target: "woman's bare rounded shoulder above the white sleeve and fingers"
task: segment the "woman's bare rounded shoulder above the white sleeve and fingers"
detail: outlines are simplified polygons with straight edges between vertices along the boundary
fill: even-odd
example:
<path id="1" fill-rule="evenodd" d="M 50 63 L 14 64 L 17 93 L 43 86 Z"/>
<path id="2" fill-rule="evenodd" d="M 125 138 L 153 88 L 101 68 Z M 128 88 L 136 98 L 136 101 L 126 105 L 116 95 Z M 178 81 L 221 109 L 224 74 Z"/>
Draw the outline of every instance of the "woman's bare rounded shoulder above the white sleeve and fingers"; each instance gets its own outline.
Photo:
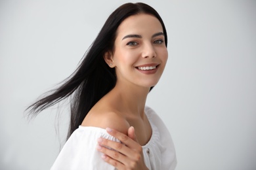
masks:
<path id="1" fill-rule="evenodd" d="M 127 134 L 130 127 L 125 117 L 119 112 L 102 109 L 91 110 L 83 120 L 81 126 L 101 127 L 103 129 L 110 127 L 124 134 Z"/>

